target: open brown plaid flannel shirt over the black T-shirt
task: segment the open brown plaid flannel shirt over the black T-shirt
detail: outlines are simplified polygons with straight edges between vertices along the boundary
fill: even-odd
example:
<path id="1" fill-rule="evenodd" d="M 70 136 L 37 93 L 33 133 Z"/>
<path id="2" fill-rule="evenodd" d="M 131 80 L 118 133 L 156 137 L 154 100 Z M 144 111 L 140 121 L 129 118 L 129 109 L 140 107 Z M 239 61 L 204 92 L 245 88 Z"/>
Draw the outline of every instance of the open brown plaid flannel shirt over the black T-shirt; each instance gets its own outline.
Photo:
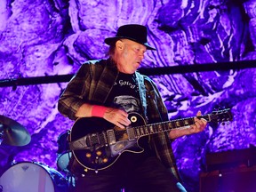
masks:
<path id="1" fill-rule="evenodd" d="M 139 72 L 135 72 L 135 74 L 146 121 L 152 124 L 167 121 L 167 109 L 156 84 L 148 76 L 140 75 Z M 117 76 L 116 64 L 110 59 L 85 62 L 60 96 L 58 102 L 60 113 L 76 120 L 76 111 L 84 102 L 104 105 Z M 151 135 L 149 142 L 151 148 L 155 149 L 156 156 L 180 180 L 168 132 Z"/>

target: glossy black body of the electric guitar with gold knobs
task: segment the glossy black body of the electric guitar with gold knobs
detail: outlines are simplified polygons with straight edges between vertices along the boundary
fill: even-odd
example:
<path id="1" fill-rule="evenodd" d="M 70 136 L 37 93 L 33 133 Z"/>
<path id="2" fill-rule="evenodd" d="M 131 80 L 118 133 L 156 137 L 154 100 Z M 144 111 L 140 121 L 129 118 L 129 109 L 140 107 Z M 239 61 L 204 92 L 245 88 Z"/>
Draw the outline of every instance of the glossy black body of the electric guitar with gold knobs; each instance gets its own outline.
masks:
<path id="1" fill-rule="evenodd" d="M 145 124 L 145 120 L 140 114 L 132 113 L 128 118 L 132 122 L 132 127 Z M 115 141 L 109 139 L 109 135 L 112 135 L 111 132 L 115 132 Z M 98 171 L 108 168 L 125 151 L 143 152 L 143 148 L 140 148 L 138 143 L 139 140 L 129 140 L 126 130 L 123 132 L 114 124 L 100 117 L 77 119 L 69 136 L 73 156 L 79 164 L 89 170 Z M 83 139 L 81 140 L 81 138 Z M 80 145 L 80 147 L 72 147 L 72 141 L 74 141 L 74 146 Z"/>

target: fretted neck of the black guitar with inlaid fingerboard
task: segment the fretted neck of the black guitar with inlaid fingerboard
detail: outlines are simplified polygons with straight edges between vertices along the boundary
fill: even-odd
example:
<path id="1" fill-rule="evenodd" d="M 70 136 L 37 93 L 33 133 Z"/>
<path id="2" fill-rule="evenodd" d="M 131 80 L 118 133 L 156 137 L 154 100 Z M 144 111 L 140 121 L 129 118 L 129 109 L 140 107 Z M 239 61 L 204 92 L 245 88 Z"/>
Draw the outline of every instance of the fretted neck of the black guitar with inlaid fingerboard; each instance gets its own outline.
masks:
<path id="1" fill-rule="evenodd" d="M 146 124 L 137 127 L 127 127 L 126 132 L 129 139 L 138 139 L 142 136 L 156 134 L 159 132 L 169 132 L 173 129 L 180 129 L 195 124 L 195 117 L 181 118 L 178 120 L 166 121 L 156 124 Z M 197 118 L 204 118 L 207 122 L 211 121 L 209 115 L 197 116 Z"/>

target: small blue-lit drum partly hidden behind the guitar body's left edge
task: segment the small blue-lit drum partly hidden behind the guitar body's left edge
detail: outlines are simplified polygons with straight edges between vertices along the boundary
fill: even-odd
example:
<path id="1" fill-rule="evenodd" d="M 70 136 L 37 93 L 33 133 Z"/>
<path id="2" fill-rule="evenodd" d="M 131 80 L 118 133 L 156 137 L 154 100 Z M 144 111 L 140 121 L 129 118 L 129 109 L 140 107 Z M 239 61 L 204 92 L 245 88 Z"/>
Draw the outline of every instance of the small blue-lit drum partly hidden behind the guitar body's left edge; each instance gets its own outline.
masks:
<path id="1" fill-rule="evenodd" d="M 70 130 L 62 132 L 57 140 L 58 151 L 57 151 L 57 167 L 59 171 L 68 171 L 68 163 L 72 156 L 72 152 L 69 149 Z"/>

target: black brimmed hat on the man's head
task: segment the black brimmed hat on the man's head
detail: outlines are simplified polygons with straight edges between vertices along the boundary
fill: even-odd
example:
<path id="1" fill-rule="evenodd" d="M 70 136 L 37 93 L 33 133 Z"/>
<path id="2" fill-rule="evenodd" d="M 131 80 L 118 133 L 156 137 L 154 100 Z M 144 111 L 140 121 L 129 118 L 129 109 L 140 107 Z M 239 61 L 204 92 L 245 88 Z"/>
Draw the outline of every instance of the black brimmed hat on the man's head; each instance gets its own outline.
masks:
<path id="1" fill-rule="evenodd" d="M 147 40 L 148 30 L 145 26 L 139 24 L 129 24 L 121 26 L 117 29 L 116 36 L 108 37 L 105 39 L 106 44 L 111 44 L 118 39 L 130 39 L 139 44 L 144 44 L 148 50 L 156 50 L 156 48 L 150 46 Z"/>

